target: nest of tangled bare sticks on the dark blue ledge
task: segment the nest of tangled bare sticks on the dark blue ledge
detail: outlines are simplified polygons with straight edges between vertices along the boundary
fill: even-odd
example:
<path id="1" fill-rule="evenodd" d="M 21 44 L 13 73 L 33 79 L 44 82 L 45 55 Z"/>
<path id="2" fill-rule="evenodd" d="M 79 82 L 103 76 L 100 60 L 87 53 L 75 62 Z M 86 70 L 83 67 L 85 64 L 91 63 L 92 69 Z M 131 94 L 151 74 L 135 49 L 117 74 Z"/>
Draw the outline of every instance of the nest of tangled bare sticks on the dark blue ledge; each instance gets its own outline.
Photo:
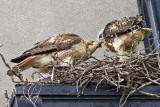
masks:
<path id="1" fill-rule="evenodd" d="M 135 88 L 150 83 L 159 85 L 160 68 L 158 53 L 139 53 L 126 56 L 125 62 L 118 57 L 105 57 L 103 60 L 86 61 L 75 67 L 54 67 L 52 76 L 39 82 L 70 84 L 85 87 L 87 84 L 110 85 L 117 88 Z M 53 80 L 53 81 L 52 81 Z"/>

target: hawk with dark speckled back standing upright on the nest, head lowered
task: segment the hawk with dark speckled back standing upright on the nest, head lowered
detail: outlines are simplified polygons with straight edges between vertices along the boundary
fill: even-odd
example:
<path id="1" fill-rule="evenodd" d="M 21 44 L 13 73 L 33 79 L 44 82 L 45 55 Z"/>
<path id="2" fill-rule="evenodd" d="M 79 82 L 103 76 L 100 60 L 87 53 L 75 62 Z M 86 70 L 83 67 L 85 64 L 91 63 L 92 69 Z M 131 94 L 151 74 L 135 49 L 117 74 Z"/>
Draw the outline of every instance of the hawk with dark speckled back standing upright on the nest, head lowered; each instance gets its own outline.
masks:
<path id="1" fill-rule="evenodd" d="M 105 47 L 120 55 L 120 62 L 124 61 L 124 51 L 136 52 L 139 41 L 151 34 L 150 28 L 144 28 L 142 17 L 123 17 L 108 23 L 98 35 L 100 41 L 105 41 Z"/>

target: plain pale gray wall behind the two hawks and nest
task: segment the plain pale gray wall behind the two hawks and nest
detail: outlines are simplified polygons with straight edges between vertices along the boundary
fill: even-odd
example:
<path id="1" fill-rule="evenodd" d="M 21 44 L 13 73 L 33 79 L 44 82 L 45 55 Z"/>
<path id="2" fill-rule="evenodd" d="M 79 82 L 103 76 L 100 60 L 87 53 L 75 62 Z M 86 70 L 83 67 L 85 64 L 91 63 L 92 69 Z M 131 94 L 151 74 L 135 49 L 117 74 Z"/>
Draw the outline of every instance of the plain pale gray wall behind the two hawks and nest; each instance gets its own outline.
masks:
<path id="1" fill-rule="evenodd" d="M 136 0 L 0 0 L 0 53 L 14 66 L 10 59 L 49 36 L 75 33 L 97 41 L 108 22 L 136 14 Z M 103 58 L 105 53 L 98 49 L 94 56 Z M 0 107 L 6 105 L 5 90 L 10 96 L 14 87 L 7 70 L 0 59 Z M 23 74 L 30 77 L 31 70 Z"/>

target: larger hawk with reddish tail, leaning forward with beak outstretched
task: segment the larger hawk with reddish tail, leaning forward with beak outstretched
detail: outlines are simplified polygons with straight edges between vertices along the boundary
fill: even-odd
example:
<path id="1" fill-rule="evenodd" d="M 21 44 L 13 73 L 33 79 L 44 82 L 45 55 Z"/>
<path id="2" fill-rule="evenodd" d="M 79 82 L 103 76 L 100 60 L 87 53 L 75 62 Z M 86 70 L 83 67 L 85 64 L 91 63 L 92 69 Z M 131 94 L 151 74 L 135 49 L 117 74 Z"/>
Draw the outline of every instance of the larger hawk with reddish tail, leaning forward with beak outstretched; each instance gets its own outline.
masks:
<path id="1" fill-rule="evenodd" d="M 38 68 L 40 73 L 47 73 L 52 70 L 48 68 L 51 62 L 61 66 L 79 64 L 87 60 L 100 45 L 101 43 L 89 42 L 75 34 L 61 34 L 36 43 L 33 48 L 11 62 L 18 63 L 13 67 L 15 72 L 33 67 Z M 14 74 L 9 70 L 7 75 Z"/>

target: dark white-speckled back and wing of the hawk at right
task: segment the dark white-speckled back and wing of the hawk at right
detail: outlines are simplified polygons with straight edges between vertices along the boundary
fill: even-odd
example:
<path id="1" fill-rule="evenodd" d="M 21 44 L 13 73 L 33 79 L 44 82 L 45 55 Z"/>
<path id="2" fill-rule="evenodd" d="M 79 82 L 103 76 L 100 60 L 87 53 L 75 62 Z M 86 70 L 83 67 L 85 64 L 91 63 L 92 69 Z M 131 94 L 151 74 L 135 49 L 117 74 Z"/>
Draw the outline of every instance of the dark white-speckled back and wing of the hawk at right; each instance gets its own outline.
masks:
<path id="1" fill-rule="evenodd" d="M 144 27 L 144 21 L 141 16 L 123 17 L 108 23 L 104 29 L 103 36 L 105 39 L 110 39 L 116 35 L 119 36 L 142 27 Z"/>

